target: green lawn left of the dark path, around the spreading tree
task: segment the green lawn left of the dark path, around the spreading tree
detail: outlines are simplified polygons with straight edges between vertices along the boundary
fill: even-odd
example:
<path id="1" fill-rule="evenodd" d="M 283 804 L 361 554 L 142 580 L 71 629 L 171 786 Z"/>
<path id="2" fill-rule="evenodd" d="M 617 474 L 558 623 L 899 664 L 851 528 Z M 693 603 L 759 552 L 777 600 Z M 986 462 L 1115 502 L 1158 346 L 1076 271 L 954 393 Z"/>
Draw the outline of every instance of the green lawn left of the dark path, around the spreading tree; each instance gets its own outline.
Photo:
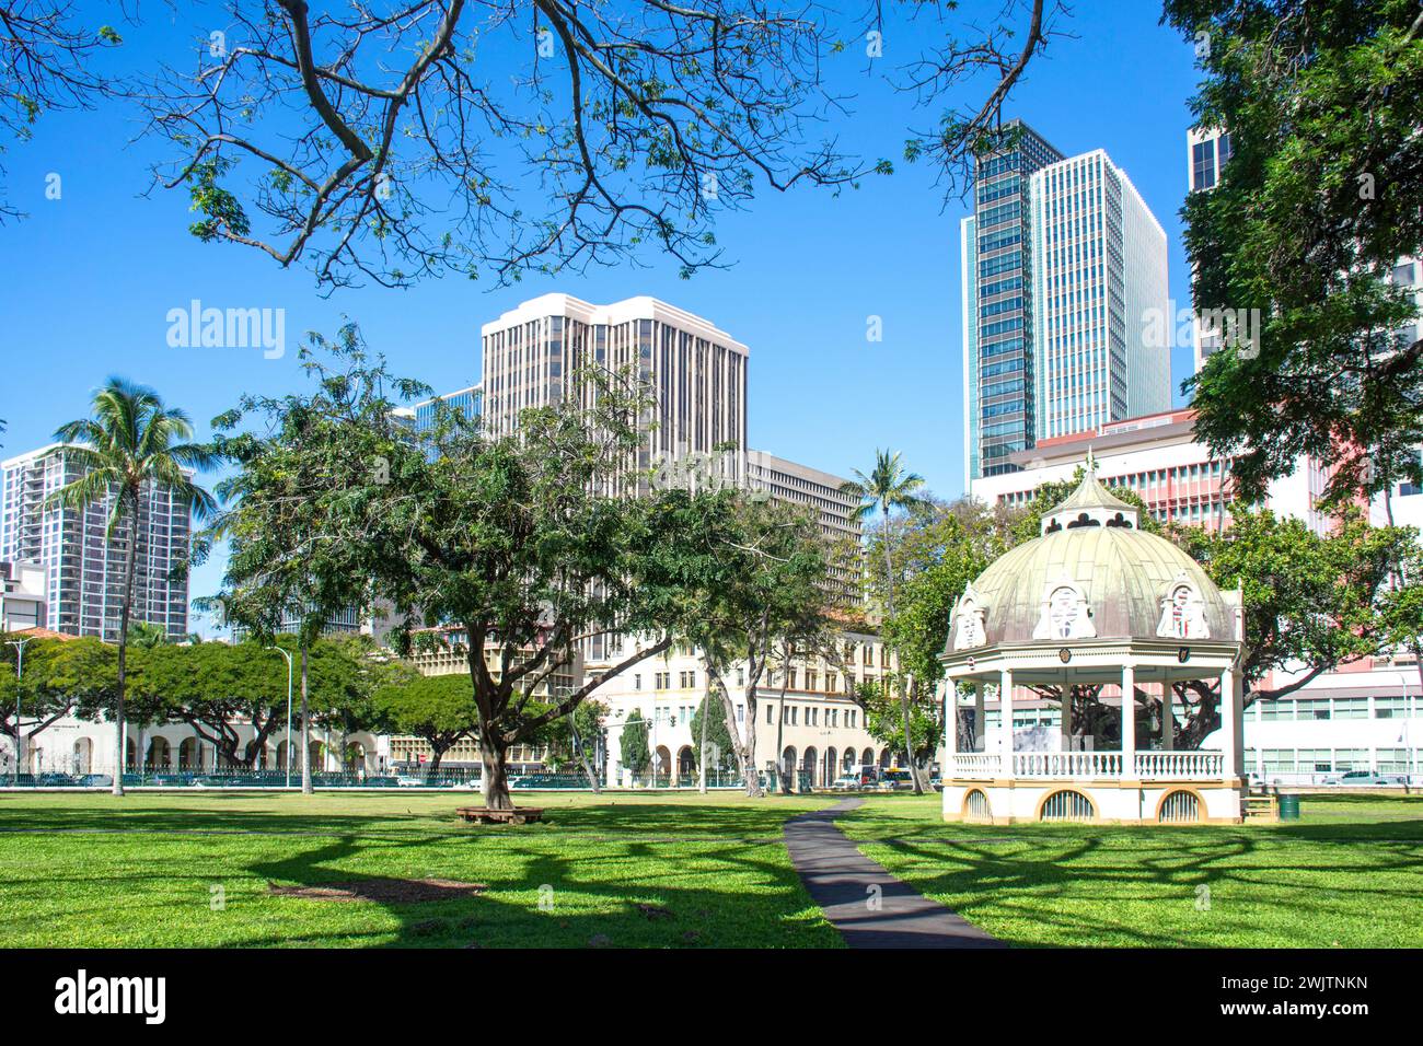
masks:
<path id="1" fill-rule="evenodd" d="M 474 801 L 3 794 L 0 946 L 841 946 L 781 842 L 785 818 L 824 800 L 524 796 L 551 807 L 524 827 L 465 825 L 454 808 Z M 416 904 L 269 894 L 383 877 L 488 889 Z"/>

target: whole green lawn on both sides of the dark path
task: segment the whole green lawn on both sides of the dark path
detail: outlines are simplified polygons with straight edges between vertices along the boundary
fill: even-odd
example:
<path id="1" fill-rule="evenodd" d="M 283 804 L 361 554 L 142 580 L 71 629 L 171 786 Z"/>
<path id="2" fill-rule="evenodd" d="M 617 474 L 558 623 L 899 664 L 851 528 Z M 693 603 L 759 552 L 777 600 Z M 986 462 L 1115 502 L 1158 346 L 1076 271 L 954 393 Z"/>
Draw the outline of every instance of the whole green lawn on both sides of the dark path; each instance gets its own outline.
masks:
<path id="1" fill-rule="evenodd" d="M 527 796 L 549 823 L 487 828 L 454 818 L 472 798 L 0 794 L 0 946 L 841 946 L 781 842 L 785 818 L 827 798 Z M 1013 945 L 1423 946 L 1423 798 L 1306 797 L 1303 811 L 1262 827 L 992 828 L 942 823 L 936 796 L 891 796 L 840 824 Z M 377 878 L 487 889 L 269 889 Z"/>

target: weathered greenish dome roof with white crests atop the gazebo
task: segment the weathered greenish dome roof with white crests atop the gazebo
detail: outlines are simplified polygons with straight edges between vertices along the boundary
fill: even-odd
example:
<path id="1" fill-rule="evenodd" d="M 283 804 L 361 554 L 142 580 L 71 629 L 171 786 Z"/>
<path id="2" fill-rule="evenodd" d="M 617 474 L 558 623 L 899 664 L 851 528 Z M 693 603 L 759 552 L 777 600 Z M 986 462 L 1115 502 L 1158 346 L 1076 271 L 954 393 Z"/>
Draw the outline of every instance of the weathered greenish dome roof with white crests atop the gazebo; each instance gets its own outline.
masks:
<path id="1" fill-rule="evenodd" d="M 1042 537 L 1009 549 L 963 592 L 945 653 L 1063 639 L 1234 642 L 1235 601 L 1140 525 L 1137 508 L 1097 481 L 1089 457 L 1077 488 L 1043 517 Z"/>

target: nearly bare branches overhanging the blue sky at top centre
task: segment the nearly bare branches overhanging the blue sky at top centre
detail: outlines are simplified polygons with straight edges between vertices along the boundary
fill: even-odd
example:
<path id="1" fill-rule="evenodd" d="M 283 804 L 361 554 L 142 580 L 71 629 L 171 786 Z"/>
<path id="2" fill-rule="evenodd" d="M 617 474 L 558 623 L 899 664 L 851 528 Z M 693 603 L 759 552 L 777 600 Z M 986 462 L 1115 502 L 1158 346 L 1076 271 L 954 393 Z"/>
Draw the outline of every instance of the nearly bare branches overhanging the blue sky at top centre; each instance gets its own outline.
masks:
<path id="1" fill-rule="evenodd" d="M 306 263 L 329 286 L 514 280 L 642 246 L 686 275 L 721 263 L 716 216 L 757 192 L 892 171 L 838 144 L 848 100 L 830 73 L 847 46 L 939 111 L 904 154 L 956 184 L 1064 13 L 1056 0 L 988 19 L 938 1 L 233 3 L 219 40 L 205 34 L 194 61 L 149 71 L 135 95 L 171 147 L 155 176 L 191 195 L 194 235 Z M 887 38 L 905 57 L 887 64 Z M 943 111 L 965 95 L 979 101 Z"/>

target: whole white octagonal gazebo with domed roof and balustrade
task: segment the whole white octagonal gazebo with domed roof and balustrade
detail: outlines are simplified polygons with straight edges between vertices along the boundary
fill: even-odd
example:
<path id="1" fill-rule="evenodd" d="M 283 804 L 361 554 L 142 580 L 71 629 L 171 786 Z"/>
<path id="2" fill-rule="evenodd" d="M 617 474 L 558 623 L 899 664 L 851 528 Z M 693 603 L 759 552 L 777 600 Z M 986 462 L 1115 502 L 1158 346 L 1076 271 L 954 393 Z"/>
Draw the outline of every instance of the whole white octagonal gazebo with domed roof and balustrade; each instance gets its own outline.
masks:
<path id="1" fill-rule="evenodd" d="M 1141 531 L 1137 509 L 1097 481 L 1089 453 L 1087 474 L 1043 517 L 1042 537 L 993 562 L 953 608 L 939 657 L 949 702 L 943 818 L 1239 821 L 1242 620 L 1239 591 L 1221 592 L 1185 552 Z M 1217 747 L 1173 750 L 1171 683 L 1181 680 L 1220 687 Z M 972 699 L 959 683 L 972 685 Z M 1120 707 L 1118 737 L 1076 736 L 1070 703 L 1057 731 L 1013 730 L 1015 690 L 1073 686 L 1100 687 L 1099 699 Z M 990 731 L 985 687 L 999 697 Z M 1138 702 L 1151 699 L 1165 714 L 1138 739 Z M 969 707 L 963 729 L 956 713 Z"/>

